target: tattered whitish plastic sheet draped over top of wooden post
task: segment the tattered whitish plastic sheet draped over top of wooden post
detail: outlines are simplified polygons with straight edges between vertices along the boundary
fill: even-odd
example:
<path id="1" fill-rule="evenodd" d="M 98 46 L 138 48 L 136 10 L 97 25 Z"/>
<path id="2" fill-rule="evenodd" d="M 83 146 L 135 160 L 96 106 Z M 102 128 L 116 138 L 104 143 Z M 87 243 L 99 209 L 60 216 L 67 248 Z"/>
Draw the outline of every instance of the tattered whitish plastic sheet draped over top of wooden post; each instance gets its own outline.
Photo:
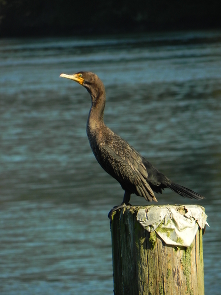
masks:
<path id="1" fill-rule="evenodd" d="M 156 233 L 168 245 L 189 247 L 198 231 L 204 229 L 207 215 L 202 207 L 185 206 L 150 206 L 140 208 L 137 220 L 148 232 Z M 209 226 L 209 225 L 208 225 Z"/>

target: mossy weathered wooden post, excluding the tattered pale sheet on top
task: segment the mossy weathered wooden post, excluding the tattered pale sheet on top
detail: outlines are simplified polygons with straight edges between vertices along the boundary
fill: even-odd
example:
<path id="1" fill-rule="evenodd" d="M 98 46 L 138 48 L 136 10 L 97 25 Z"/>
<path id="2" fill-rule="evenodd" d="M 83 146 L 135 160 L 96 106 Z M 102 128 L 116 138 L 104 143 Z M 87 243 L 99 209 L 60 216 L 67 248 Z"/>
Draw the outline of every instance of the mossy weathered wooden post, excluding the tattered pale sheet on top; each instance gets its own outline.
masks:
<path id="1" fill-rule="evenodd" d="M 204 295 L 202 229 L 189 247 L 167 245 L 137 220 L 138 210 L 150 207 L 128 206 L 114 212 L 114 295 Z"/>

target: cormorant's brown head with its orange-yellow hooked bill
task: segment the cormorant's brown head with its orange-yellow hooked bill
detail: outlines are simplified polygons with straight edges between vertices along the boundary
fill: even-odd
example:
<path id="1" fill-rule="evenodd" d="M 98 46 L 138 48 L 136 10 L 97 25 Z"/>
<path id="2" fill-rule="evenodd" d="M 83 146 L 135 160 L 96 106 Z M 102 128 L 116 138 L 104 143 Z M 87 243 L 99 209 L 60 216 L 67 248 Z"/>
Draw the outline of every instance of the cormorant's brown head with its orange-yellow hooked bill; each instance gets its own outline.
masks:
<path id="1" fill-rule="evenodd" d="M 78 82 L 85 87 L 89 93 L 96 93 L 98 89 L 104 89 L 103 82 L 92 72 L 81 71 L 73 75 L 60 74 L 60 77 Z"/>

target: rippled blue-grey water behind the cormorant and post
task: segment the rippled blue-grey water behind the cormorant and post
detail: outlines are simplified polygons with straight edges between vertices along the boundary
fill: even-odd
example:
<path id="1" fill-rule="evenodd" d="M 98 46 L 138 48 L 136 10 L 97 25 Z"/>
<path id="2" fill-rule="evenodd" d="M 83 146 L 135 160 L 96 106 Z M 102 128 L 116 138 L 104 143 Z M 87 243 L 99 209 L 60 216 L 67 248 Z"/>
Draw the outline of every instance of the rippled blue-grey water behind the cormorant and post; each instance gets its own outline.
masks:
<path id="1" fill-rule="evenodd" d="M 59 79 L 79 70 L 103 80 L 111 129 L 207 197 L 205 294 L 220 294 L 221 31 L 3 39 L 0 67 L 0 294 L 113 294 L 107 214 L 123 191 L 90 150 L 88 93 Z"/>

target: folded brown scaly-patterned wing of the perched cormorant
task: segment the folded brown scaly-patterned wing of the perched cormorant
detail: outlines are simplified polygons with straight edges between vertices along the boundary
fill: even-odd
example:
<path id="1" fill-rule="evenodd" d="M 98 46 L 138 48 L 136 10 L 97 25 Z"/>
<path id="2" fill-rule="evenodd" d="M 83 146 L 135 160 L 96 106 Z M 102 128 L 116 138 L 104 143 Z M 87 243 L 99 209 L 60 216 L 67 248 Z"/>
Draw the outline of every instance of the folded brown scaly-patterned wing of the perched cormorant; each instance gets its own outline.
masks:
<path id="1" fill-rule="evenodd" d="M 127 142 L 117 137 L 100 146 L 102 157 L 98 162 L 103 169 L 117 179 L 124 190 L 129 190 L 147 201 L 156 198 L 147 182 L 148 173 L 142 163 L 142 156 Z"/>

